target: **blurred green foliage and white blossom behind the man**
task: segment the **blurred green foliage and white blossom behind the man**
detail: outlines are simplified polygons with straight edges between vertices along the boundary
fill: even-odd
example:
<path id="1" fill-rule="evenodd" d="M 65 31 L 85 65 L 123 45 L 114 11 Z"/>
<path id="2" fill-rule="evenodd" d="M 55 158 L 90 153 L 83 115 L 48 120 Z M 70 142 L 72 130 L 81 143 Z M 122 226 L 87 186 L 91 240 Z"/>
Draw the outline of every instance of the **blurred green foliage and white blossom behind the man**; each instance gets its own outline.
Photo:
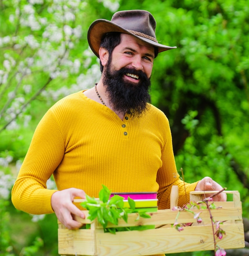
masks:
<path id="1" fill-rule="evenodd" d="M 211 176 L 240 191 L 248 216 L 247 0 L 0 0 L 0 171 L 16 177 L 47 109 L 98 81 L 87 29 L 125 9 L 150 11 L 157 40 L 177 46 L 159 54 L 151 77 L 152 103 L 170 121 L 177 169 L 186 182 Z M 0 199 L 0 215 L 1 255 L 57 255 L 55 216 L 34 224 L 9 196 Z M 25 241 L 16 236 L 23 232 Z"/>

